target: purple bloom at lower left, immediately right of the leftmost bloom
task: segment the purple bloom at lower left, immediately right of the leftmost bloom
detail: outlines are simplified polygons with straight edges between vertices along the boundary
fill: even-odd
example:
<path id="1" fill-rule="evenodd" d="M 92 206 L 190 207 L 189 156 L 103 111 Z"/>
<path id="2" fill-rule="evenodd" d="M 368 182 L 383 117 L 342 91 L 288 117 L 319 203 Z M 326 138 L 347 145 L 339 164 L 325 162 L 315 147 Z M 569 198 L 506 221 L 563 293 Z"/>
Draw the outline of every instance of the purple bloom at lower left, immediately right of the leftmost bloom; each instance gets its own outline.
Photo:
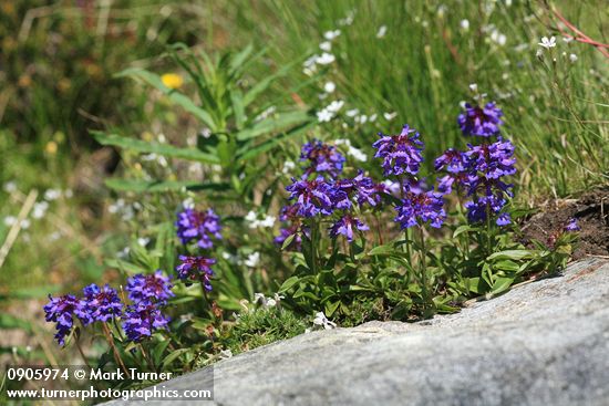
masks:
<path id="1" fill-rule="evenodd" d="M 83 289 L 84 298 L 81 305 L 74 312 L 83 324 L 93 322 L 107 322 L 112 317 L 120 316 L 123 311 L 123 303 L 118 299 L 115 289 L 107 284 L 100 288 L 92 283 Z"/>

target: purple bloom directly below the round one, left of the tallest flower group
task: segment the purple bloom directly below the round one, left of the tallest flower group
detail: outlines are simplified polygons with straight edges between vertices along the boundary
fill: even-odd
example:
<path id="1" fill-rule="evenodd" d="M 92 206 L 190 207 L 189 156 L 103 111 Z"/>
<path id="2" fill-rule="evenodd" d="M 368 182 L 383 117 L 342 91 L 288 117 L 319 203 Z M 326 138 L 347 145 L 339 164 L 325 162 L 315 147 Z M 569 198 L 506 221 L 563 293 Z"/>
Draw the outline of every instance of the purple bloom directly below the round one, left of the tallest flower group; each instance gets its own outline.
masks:
<path id="1" fill-rule="evenodd" d="M 429 222 L 434 228 L 440 228 L 446 219 L 443 195 L 420 189 L 407 190 L 404 194 L 402 204 L 395 207 L 398 216 L 394 221 L 400 223 L 402 229 Z"/>

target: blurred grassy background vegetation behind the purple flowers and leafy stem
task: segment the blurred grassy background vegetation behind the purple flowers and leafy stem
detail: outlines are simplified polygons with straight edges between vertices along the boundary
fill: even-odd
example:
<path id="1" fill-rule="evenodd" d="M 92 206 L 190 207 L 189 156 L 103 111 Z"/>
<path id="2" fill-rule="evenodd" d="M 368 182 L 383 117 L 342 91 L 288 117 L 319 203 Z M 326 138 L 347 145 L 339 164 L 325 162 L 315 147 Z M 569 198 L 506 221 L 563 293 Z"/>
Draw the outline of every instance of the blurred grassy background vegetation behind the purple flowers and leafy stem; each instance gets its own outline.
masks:
<path id="1" fill-rule="evenodd" d="M 475 83 L 504 110 L 518 147 L 519 204 L 533 206 L 609 177 L 607 58 L 564 41 L 570 31 L 554 11 L 609 42 L 602 0 L 1 0 L 0 246 L 14 242 L 0 266 L 0 351 L 55 356 L 51 334 L 40 334 L 45 294 L 112 281 L 102 259 L 145 244 L 133 214 L 154 205 L 104 185 L 123 173 L 142 176 L 142 163 L 121 160 L 90 131 L 176 145 L 205 132 L 161 92 L 118 72 L 173 74 L 165 79 L 192 95 L 167 45 L 217 54 L 252 44 L 264 54 L 242 81 L 289 66 L 257 105 L 279 97 L 316 112 L 343 101 L 339 118 L 307 135 L 348 138 L 369 156 L 379 131 L 409 123 L 423 135 L 429 167 L 465 144 L 455 123 Z M 557 46 L 540 49 L 551 35 Z M 324 52 L 334 61 L 307 71 L 303 63 Z M 293 156 L 298 145 L 285 149 Z"/>

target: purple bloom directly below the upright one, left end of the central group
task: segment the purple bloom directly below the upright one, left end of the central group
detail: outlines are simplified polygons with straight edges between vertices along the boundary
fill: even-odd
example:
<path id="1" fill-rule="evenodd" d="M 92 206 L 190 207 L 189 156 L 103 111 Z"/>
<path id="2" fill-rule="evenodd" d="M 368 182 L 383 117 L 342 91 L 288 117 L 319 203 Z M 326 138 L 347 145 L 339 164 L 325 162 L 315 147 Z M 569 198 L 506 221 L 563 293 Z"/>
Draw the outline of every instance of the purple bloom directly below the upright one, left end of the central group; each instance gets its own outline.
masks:
<path id="1" fill-rule="evenodd" d="M 323 180 L 322 177 L 308 180 L 304 177 L 300 180 L 292 178 L 292 185 L 286 187 L 290 192 L 289 199 L 296 199 L 298 216 L 314 217 L 319 214 L 329 216 L 334 209 L 334 188 Z"/>

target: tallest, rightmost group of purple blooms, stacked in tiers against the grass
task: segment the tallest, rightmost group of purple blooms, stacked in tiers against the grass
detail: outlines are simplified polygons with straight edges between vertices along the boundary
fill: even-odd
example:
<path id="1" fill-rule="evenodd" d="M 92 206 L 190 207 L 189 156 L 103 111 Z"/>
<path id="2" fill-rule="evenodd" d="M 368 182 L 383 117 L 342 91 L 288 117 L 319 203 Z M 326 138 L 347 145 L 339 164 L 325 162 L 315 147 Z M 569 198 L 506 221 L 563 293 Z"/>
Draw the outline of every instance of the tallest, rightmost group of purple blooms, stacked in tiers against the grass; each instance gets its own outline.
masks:
<path id="1" fill-rule="evenodd" d="M 502 115 L 495 103 L 488 103 L 484 110 L 467 105 L 460 124 L 466 135 L 489 137 L 498 134 Z M 514 145 L 500 136 L 494 143 L 485 139 L 481 145 L 468 144 L 466 152 L 451 148 L 435 160 L 435 169 L 447 173 L 440 179 L 438 191 L 447 195 L 456 186 L 457 192 L 471 198 L 465 202 L 469 222 L 483 222 L 488 216 L 496 216 L 498 226 L 507 226 L 512 220 L 502 210 L 513 196 L 513 186 L 503 178 L 516 173 L 515 164 Z"/>

